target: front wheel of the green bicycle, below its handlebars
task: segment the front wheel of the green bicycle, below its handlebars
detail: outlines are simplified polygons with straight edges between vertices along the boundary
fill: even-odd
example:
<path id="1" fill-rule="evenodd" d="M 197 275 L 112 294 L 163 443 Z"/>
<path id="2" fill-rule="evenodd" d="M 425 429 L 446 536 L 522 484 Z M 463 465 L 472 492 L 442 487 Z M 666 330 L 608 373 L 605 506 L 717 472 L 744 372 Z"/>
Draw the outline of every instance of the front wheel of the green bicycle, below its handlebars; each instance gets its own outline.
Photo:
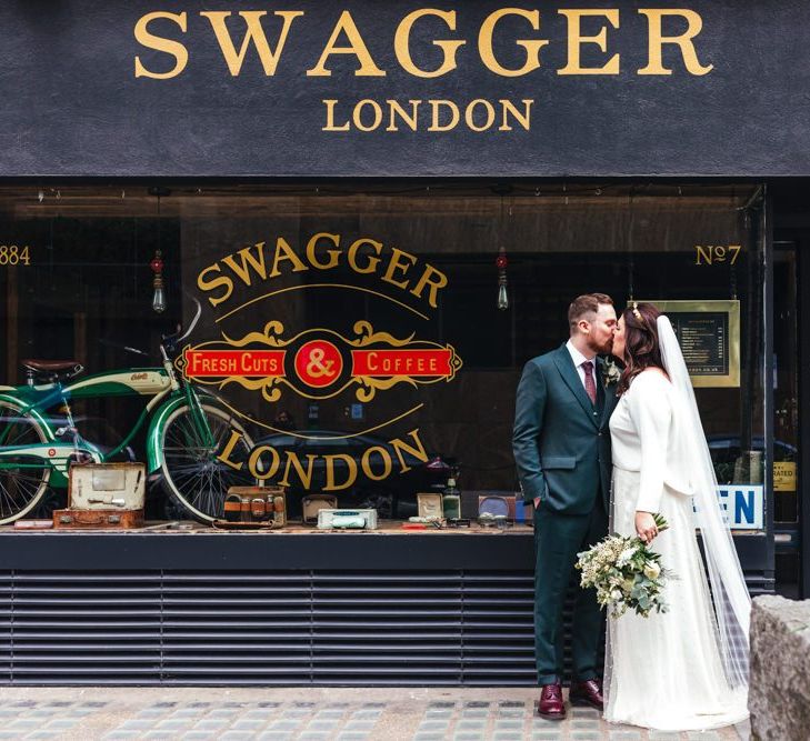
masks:
<path id="1" fill-rule="evenodd" d="M 189 407 L 176 409 L 166 421 L 160 437 L 163 485 L 197 520 L 211 522 L 222 518 L 224 498 L 230 487 L 256 485 L 256 479 L 248 471 L 248 455 L 253 443 L 233 414 L 204 402 L 200 408 L 208 420 L 214 444 L 204 444 Z M 230 440 L 231 430 L 241 435 L 229 454 L 230 461 L 242 463 L 238 471 L 217 458 Z"/>

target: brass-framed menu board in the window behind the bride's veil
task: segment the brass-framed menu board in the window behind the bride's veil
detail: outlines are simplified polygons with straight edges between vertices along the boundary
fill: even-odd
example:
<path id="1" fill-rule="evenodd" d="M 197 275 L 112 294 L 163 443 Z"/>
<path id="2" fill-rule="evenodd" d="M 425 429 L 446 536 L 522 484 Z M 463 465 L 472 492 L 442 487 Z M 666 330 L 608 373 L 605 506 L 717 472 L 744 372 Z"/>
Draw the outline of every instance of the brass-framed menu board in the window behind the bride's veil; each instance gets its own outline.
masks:
<path id="1" fill-rule="evenodd" d="M 739 301 L 650 302 L 669 317 L 692 385 L 740 385 Z"/>

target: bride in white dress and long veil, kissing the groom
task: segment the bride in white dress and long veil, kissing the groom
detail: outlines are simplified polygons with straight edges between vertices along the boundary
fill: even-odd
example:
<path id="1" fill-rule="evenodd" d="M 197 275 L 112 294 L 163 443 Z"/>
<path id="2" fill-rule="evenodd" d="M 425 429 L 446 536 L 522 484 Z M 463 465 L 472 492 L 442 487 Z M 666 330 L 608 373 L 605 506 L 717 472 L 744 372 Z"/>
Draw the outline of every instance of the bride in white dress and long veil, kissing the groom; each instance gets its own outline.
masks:
<path id="1" fill-rule="evenodd" d="M 738 723 L 748 717 L 751 603 L 683 356 L 651 303 L 623 312 L 613 354 L 626 370 L 610 420 L 611 532 L 651 543 L 677 578 L 664 589 L 668 612 L 609 618 L 604 718 L 660 731 Z M 661 534 L 656 512 L 669 523 Z"/>

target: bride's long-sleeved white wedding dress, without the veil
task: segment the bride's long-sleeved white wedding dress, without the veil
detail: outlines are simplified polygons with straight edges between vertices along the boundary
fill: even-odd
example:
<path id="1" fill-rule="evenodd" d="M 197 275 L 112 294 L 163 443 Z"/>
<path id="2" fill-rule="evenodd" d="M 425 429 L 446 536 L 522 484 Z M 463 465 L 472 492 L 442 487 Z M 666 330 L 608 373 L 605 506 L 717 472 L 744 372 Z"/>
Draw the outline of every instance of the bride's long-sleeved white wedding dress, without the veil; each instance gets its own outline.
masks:
<path id="1" fill-rule="evenodd" d="M 608 617 L 604 718 L 660 731 L 708 730 L 748 717 L 747 684 L 731 688 L 694 532 L 684 430 L 673 385 L 660 371 L 637 375 L 610 420 L 611 533 L 636 535 L 636 511 L 660 512 L 669 529 L 652 542 L 664 569 L 669 612 Z"/>

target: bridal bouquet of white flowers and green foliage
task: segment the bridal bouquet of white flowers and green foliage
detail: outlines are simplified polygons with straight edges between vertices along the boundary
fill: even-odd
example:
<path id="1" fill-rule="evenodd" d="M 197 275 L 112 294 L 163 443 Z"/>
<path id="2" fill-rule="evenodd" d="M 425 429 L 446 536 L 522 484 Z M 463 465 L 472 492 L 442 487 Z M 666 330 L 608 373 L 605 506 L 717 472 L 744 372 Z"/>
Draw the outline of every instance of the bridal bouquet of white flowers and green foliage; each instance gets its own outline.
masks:
<path id="1" fill-rule="evenodd" d="M 659 532 L 669 527 L 660 514 L 653 515 Z M 580 587 L 597 590 L 601 607 L 610 605 L 611 615 L 620 618 L 628 609 L 642 618 L 667 612 L 663 587 L 676 575 L 661 567 L 660 553 L 651 551 L 640 538 L 610 535 L 591 549 L 577 554 L 582 571 Z"/>

